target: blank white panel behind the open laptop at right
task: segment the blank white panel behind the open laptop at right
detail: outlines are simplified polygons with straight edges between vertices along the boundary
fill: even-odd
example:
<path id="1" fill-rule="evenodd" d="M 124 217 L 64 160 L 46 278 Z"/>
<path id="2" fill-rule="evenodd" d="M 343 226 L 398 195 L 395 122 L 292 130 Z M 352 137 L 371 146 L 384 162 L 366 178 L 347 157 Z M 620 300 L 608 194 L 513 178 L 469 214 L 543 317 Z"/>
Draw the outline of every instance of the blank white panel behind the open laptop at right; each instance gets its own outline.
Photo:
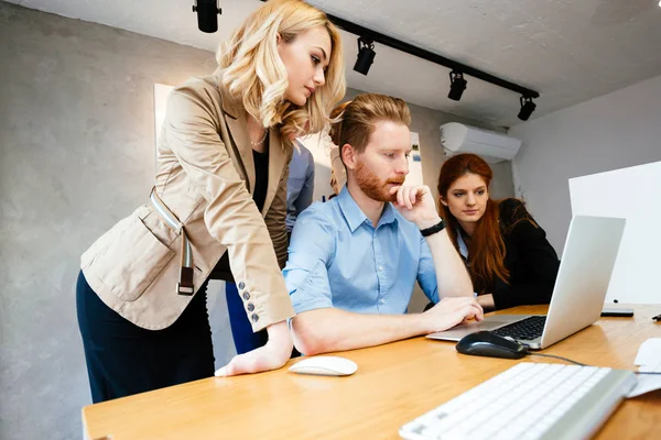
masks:
<path id="1" fill-rule="evenodd" d="M 627 219 L 606 301 L 661 304 L 661 162 L 570 179 L 573 216 Z"/>

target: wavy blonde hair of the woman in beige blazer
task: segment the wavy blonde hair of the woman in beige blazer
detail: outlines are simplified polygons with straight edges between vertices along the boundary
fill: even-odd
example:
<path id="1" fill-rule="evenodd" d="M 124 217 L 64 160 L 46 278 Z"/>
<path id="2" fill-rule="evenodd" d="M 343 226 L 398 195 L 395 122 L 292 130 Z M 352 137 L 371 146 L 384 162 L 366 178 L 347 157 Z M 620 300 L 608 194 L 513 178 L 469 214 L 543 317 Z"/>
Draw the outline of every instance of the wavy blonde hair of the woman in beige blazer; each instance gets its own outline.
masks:
<path id="1" fill-rule="evenodd" d="M 326 82 L 300 107 L 284 99 L 289 82 L 278 53 L 278 35 L 291 42 L 316 26 L 325 26 L 330 36 Z M 220 80 L 229 92 L 264 128 L 279 125 L 285 144 L 293 138 L 328 130 L 328 113 L 346 91 L 339 32 L 324 12 L 301 0 L 266 2 L 220 45 L 217 61 L 224 69 Z"/>

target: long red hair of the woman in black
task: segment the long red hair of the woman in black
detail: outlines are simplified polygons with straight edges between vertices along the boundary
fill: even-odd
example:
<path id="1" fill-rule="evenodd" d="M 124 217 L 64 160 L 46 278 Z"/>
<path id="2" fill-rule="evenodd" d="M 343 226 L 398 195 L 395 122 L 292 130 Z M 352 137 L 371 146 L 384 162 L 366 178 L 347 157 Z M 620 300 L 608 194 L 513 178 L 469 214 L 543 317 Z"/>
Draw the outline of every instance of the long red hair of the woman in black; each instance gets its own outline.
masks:
<path id="1" fill-rule="evenodd" d="M 449 209 L 441 202 L 447 200 L 449 187 L 459 177 L 473 173 L 485 180 L 487 188 L 491 184 L 494 172 L 489 164 L 475 154 L 457 154 L 449 157 L 441 167 L 438 176 L 438 213 L 445 220 L 447 234 L 455 248 L 459 223 Z M 505 267 L 505 241 L 499 226 L 499 201 L 487 200 L 485 215 L 477 221 L 475 232 L 468 244 L 468 273 L 473 279 L 475 292 L 484 294 L 494 288 L 496 277 L 509 283 L 509 271 Z"/>

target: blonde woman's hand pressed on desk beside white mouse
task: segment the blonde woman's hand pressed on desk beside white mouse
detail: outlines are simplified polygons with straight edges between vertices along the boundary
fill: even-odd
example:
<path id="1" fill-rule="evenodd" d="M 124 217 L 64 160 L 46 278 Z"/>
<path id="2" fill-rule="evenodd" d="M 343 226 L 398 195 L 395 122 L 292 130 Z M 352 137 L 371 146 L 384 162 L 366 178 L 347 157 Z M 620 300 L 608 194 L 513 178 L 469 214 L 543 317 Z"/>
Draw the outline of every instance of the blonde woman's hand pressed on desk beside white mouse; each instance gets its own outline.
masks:
<path id="1" fill-rule="evenodd" d="M 264 346 L 232 358 L 227 365 L 216 371 L 216 376 L 236 376 L 280 369 L 292 355 L 294 342 L 286 321 L 267 327 L 269 342 Z"/>

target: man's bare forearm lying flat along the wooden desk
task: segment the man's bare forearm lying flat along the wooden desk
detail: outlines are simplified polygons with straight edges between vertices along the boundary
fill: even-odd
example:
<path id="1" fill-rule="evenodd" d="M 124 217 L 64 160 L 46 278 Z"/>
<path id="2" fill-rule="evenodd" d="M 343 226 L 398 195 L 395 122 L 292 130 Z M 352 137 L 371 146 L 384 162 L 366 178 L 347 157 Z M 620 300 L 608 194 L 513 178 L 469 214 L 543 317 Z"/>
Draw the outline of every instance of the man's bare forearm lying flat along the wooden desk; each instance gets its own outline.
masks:
<path id="1" fill-rule="evenodd" d="M 304 311 L 292 320 L 294 345 L 307 355 L 380 345 L 426 334 L 424 319 L 411 315 L 362 315 L 335 308 Z"/>

